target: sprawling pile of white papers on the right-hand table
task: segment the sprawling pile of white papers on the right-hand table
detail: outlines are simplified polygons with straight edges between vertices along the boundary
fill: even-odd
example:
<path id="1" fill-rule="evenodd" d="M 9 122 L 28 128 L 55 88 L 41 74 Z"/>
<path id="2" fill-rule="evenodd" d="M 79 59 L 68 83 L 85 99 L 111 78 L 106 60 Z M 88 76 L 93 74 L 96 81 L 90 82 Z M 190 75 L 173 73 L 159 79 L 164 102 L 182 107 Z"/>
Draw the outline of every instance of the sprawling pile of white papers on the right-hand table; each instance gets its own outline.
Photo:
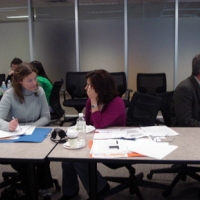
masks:
<path id="1" fill-rule="evenodd" d="M 128 157 L 131 152 L 162 159 L 177 146 L 170 145 L 178 133 L 167 126 L 97 129 L 91 148 L 92 157 Z"/>

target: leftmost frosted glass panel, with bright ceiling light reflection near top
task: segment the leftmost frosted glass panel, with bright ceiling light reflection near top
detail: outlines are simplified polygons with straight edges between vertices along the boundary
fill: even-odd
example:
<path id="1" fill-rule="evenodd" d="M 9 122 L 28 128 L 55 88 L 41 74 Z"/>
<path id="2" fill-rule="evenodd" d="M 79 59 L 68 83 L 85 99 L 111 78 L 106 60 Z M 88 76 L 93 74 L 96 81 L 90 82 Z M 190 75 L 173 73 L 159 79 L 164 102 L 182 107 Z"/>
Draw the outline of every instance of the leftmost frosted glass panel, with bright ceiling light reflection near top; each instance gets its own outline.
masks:
<path id="1" fill-rule="evenodd" d="M 10 18 L 8 18 L 10 17 Z M 27 1 L 0 1 L 1 73 L 8 75 L 11 61 L 29 60 Z"/>

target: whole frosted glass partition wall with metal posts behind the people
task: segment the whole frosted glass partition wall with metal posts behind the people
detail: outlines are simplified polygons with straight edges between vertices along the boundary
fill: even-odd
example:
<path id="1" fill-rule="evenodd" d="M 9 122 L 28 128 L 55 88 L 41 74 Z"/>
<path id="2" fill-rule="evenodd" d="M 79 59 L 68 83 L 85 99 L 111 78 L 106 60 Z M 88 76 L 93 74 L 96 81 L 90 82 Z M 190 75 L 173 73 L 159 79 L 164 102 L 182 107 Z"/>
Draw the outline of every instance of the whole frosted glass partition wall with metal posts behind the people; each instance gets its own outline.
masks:
<path id="1" fill-rule="evenodd" d="M 28 2 L 33 59 L 43 63 L 52 81 L 64 79 L 67 71 L 127 70 L 128 88 L 135 91 L 138 72 L 165 72 L 167 90 L 173 90 L 174 76 L 176 84 L 189 76 L 199 53 L 200 0 L 10 0 L 0 2 L 6 74 L 14 57 L 31 61 Z"/>

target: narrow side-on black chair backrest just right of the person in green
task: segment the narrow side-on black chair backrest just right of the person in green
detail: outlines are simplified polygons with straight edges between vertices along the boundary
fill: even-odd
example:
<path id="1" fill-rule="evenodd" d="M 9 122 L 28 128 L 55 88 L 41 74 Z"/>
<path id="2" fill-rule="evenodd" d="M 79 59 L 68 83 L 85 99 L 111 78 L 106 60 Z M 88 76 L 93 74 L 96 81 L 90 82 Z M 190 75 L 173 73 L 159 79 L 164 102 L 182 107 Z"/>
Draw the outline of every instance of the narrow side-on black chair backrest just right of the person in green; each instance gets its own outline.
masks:
<path id="1" fill-rule="evenodd" d="M 51 95 L 49 98 L 49 104 L 54 111 L 54 113 L 51 114 L 53 116 L 53 117 L 51 116 L 53 119 L 61 118 L 63 117 L 65 113 L 65 111 L 62 109 L 62 106 L 60 104 L 60 89 L 62 87 L 62 84 L 63 84 L 62 79 L 60 81 L 54 82 Z"/>

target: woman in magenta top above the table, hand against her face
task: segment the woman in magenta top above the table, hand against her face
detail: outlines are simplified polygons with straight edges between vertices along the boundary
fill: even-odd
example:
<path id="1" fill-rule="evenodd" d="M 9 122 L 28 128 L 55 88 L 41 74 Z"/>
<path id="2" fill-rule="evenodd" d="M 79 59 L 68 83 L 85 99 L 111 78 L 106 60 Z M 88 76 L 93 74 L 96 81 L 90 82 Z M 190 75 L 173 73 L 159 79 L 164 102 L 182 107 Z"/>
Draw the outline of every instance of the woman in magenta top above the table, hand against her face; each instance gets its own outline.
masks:
<path id="1" fill-rule="evenodd" d="M 118 96 L 112 76 L 105 70 L 95 70 L 86 75 L 88 100 L 85 120 L 95 128 L 125 126 L 126 112 L 123 100 Z"/>

